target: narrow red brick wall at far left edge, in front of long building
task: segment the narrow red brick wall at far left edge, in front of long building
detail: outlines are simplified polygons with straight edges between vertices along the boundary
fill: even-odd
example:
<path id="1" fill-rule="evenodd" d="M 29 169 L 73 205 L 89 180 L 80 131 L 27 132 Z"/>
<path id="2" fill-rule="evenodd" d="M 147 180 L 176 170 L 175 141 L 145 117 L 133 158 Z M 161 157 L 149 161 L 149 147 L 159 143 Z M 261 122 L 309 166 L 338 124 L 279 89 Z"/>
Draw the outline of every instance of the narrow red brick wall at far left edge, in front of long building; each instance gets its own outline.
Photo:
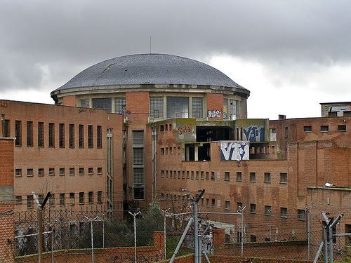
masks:
<path id="1" fill-rule="evenodd" d="M 6 194 L 13 191 L 13 147 L 12 139 L 0 137 L 0 193 L 3 195 L 5 189 Z M 12 250 L 15 236 L 13 209 L 13 194 L 0 196 L 0 262 L 4 263 L 15 262 Z"/>

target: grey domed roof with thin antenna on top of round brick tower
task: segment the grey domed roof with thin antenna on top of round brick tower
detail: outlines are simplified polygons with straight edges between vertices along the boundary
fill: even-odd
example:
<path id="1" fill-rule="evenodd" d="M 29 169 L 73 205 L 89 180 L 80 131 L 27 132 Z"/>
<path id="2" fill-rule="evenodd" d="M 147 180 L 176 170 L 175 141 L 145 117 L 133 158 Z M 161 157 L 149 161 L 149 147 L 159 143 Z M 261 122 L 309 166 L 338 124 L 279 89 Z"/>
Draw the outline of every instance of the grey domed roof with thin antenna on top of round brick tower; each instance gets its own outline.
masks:
<path id="1" fill-rule="evenodd" d="M 220 86 L 250 93 L 214 67 L 166 54 L 126 55 L 102 61 L 84 69 L 53 93 L 70 88 L 143 84 Z"/>

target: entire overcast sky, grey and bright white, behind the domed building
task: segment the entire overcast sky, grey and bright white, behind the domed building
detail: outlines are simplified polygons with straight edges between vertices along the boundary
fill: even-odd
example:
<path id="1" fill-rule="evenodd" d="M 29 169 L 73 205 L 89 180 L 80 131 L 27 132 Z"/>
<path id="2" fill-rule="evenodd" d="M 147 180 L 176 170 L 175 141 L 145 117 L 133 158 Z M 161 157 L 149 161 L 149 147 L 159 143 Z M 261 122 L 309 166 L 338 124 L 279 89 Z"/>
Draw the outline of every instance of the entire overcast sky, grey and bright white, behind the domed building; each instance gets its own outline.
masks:
<path id="1" fill-rule="evenodd" d="M 0 0 L 0 99 L 53 103 L 81 70 L 133 53 L 205 62 L 251 90 L 250 118 L 351 101 L 351 1 Z"/>

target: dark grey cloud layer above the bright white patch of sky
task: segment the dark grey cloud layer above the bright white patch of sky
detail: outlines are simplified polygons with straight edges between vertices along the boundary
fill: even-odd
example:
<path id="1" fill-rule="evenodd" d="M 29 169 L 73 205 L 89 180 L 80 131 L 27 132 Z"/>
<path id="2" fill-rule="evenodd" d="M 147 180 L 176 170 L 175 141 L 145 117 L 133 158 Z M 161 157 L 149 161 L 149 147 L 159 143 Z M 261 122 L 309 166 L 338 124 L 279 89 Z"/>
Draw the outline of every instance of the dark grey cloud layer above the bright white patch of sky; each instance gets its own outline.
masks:
<path id="1" fill-rule="evenodd" d="M 52 87 L 108 58 L 228 54 L 286 72 L 350 63 L 350 1 L 2 1 L 0 90 Z M 318 66 L 316 66 L 318 67 Z M 291 78 L 295 78 L 294 75 Z"/>

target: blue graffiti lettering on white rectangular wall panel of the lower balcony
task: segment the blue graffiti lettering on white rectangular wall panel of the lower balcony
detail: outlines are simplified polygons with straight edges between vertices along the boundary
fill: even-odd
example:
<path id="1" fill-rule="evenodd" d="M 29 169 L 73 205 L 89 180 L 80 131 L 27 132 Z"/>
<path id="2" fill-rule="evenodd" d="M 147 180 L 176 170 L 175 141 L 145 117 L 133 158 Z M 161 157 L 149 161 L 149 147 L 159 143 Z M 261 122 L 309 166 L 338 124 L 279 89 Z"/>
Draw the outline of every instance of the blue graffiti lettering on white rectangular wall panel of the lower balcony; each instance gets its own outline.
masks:
<path id="1" fill-rule="evenodd" d="M 248 142 L 220 142 L 220 160 L 249 160 Z"/>

